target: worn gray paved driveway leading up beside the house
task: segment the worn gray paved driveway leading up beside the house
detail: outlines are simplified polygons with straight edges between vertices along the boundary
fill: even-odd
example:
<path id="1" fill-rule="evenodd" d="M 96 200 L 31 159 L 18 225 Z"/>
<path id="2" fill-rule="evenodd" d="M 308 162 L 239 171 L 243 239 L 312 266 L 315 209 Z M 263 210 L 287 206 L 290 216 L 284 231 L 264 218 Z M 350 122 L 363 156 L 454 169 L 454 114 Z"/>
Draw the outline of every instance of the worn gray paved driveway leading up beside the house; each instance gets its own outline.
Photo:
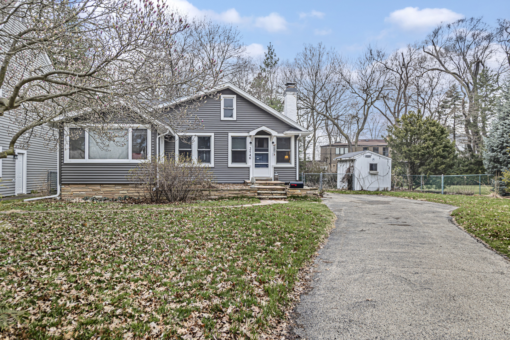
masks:
<path id="1" fill-rule="evenodd" d="M 326 195 L 338 217 L 295 308 L 307 339 L 510 339 L 510 263 L 453 206 Z"/>

